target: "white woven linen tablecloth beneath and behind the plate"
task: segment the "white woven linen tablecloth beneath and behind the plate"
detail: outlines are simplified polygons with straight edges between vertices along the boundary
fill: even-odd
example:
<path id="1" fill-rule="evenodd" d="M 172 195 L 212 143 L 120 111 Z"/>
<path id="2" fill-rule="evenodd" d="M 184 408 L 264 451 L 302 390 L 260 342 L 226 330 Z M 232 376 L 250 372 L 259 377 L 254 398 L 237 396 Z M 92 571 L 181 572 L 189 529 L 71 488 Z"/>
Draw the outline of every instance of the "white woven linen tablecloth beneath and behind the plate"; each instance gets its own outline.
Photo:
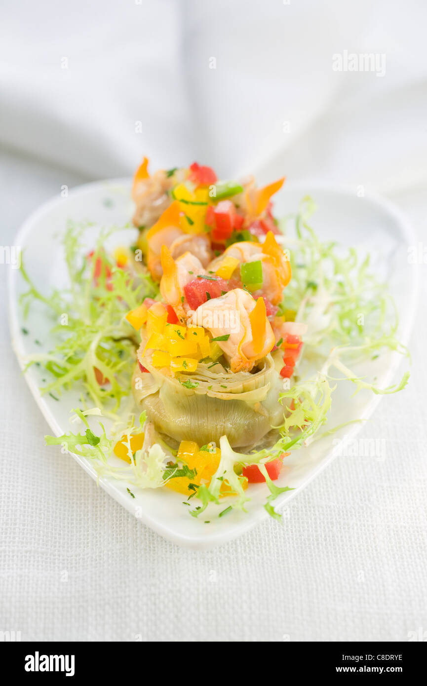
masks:
<path id="1" fill-rule="evenodd" d="M 62 185 L 131 174 L 143 152 L 153 167 L 197 158 L 222 176 L 248 169 L 365 185 L 393 198 L 426 241 L 421 3 L 3 5 L 3 246 Z M 334 72 L 332 55 L 344 50 L 385 54 L 386 73 Z M 188 552 L 44 446 L 48 427 L 10 350 L 0 265 L 0 631 L 401 641 L 427 630 L 421 270 L 411 381 L 360 434 L 385 438 L 385 459 L 337 458 L 292 500 L 284 525 L 266 521 L 214 551 Z"/>

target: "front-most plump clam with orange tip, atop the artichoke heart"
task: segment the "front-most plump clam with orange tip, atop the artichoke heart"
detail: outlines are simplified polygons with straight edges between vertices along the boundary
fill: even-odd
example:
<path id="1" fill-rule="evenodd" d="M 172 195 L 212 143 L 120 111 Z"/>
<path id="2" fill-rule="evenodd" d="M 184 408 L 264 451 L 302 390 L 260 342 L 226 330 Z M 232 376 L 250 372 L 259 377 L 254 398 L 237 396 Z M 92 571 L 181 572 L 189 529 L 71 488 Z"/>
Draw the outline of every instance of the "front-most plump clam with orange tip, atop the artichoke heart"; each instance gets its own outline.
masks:
<path id="1" fill-rule="evenodd" d="M 218 341 L 230 363 L 232 372 L 251 371 L 257 360 L 265 357 L 275 345 L 275 335 L 266 317 L 262 298 L 255 303 L 242 288 L 207 300 L 197 308 L 194 319 L 208 329 L 214 338 L 229 335 Z"/>

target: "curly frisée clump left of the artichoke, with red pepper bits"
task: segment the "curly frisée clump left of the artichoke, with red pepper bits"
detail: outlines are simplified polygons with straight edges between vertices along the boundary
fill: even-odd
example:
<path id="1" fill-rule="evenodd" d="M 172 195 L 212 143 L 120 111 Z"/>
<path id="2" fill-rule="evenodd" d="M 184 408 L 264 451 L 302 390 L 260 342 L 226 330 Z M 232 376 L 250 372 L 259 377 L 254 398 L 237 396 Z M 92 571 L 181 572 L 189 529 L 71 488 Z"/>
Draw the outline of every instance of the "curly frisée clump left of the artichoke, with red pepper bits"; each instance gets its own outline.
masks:
<path id="1" fill-rule="evenodd" d="M 158 289 L 149 276 L 136 277 L 117 268 L 104 250 L 106 239 L 119 230 L 117 227 L 101 230 L 91 257 L 84 255 L 87 226 L 70 223 L 65 233 L 67 289 L 43 296 L 21 264 L 23 278 L 30 286 L 21 296 L 24 311 L 33 300 L 39 300 L 59 321 L 51 332 L 51 351 L 30 355 L 27 366 L 42 364 L 49 372 L 43 394 L 60 394 L 80 382 L 103 414 L 115 418 L 122 400 L 131 394 L 139 345 L 139 334 L 126 320 L 126 312 L 140 305 L 143 298 L 156 296 Z"/>

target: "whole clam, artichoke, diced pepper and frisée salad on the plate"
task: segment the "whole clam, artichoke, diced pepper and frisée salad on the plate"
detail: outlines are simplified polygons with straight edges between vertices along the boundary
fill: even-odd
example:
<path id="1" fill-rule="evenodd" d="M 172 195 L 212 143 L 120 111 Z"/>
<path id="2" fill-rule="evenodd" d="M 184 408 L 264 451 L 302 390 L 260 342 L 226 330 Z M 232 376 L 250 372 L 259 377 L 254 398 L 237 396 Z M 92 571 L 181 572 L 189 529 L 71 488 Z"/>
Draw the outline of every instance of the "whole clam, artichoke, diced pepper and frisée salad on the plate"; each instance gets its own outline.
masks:
<path id="1" fill-rule="evenodd" d="M 193 517 L 246 511 L 261 483 L 279 519 L 274 500 L 290 488 L 292 453 L 325 432 L 336 379 L 355 392 L 404 388 L 408 372 L 389 388 L 357 373 L 386 348 L 408 355 L 369 257 L 316 236 L 311 198 L 279 220 L 284 181 L 218 180 L 198 163 L 150 174 L 144 158 L 131 245 L 114 226 L 87 250 L 87 227 L 70 222 L 70 287 L 50 297 L 23 255 L 24 311 L 40 300 L 54 318 L 68 313 L 49 353 L 27 363 L 45 368 L 43 393 L 80 390 L 70 407 L 78 431 L 47 436 L 48 445 L 92 460 L 130 497 L 143 488 L 181 497 Z"/>

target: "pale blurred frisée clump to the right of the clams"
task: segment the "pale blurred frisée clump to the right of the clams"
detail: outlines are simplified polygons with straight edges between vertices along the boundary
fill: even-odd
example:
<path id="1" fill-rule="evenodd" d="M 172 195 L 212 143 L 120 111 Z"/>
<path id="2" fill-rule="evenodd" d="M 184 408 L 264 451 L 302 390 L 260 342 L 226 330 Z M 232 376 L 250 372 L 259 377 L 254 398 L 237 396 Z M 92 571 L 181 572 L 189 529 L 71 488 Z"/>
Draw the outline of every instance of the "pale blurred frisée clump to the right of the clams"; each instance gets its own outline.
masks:
<path id="1" fill-rule="evenodd" d="M 296 238 L 286 234 L 292 279 L 280 305 L 280 314 L 308 324 L 305 350 L 322 344 L 351 344 L 397 331 L 397 314 L 385 283 L 370 270 L 371 258 L 358 258 L 355 248 L 343 249 L 320 241 L 308 224 L 316 206 L 301 201 L 295 218 Z M 281 224 L 285 230 L 284 222 Z M 389 329 L 388 331 L 384 329 Z"/>

